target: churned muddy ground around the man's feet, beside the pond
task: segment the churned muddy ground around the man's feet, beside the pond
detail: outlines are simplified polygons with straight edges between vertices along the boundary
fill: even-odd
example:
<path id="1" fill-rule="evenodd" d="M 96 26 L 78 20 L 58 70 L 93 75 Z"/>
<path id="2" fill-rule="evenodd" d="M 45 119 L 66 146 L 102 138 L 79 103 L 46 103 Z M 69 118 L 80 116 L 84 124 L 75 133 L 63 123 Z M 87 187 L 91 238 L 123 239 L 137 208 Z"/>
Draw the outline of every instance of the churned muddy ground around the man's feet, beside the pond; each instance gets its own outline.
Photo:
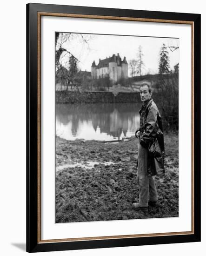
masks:
<path id="1" fill-rule="evenodd" d="M 178 135 L 165 135 L 163 177 L 155 176 L 159 203 L 136 212 L 137 139 L 66 141 L 56 137 L 56 222 L 178 217 Z"/>

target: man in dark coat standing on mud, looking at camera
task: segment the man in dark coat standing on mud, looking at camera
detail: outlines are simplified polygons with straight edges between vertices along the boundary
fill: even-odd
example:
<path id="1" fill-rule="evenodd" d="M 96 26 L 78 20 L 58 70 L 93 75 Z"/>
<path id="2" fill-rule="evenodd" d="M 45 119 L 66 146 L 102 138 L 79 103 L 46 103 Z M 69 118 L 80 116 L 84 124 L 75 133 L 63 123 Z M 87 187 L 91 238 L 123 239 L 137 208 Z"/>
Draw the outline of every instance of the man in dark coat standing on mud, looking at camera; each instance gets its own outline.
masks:
<path id="1" fill-rule="evenodd" d="M 152 99 L 152 88 L 148 83 L 140 85 L 140 128 L 136 130 L 138 146 L 139 202 L 133 203 L 134 210 L 148 211 L 148 204 L 155 206 L 158 200 L 153 175 L 164 169 L 164 138 L 159 110 Z"/>

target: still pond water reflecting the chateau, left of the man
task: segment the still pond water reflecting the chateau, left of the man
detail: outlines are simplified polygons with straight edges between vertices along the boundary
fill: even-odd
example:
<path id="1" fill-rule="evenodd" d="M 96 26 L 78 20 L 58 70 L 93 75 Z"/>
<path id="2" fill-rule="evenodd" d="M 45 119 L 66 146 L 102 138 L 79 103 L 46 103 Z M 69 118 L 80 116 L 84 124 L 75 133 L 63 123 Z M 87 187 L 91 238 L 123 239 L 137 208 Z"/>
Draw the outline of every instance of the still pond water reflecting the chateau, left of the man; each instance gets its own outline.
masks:
<path id="1" fill-rule="evenodd" d="M 130 137 L 139 127 L 139 109 L 138 103 L 57 104 L 56 135 L 99 141 Z"/>

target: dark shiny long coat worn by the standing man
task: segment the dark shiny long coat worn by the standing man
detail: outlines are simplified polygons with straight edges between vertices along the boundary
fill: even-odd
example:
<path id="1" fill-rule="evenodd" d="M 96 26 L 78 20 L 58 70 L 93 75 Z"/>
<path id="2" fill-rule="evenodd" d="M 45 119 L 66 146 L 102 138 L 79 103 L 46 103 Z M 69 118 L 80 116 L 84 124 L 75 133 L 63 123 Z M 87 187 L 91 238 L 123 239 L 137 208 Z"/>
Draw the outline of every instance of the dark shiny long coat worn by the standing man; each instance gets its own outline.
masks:
<path id="1" fill-rule="evenodd" d="M 140 109 L 140 144 L 148 149 L 148 175 L 162 175 L 164 168 L 164 136 L 161 116 L 153 99 Z"/>

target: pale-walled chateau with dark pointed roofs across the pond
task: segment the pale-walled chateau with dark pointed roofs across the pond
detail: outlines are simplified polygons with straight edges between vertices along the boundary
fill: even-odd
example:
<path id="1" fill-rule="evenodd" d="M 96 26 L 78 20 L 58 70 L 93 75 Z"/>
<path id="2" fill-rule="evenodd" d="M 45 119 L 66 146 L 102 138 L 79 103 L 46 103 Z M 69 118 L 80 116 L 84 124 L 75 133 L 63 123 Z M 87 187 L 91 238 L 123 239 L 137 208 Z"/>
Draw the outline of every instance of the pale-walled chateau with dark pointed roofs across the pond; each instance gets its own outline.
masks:
<path id="1" fill-rule="evenodd" d="M 128 63 L 126 57 L 123 61 L 121 60 L 120 54 L 113 54 L 104 60 L 99 59 L 99 64 L 96 66 L 95 61 L 92 63 L 91 67 L 92 78 L 101 78 L 109 76 L 110 80 L 118 81 L 120 78 L 128 77 Z"/>

